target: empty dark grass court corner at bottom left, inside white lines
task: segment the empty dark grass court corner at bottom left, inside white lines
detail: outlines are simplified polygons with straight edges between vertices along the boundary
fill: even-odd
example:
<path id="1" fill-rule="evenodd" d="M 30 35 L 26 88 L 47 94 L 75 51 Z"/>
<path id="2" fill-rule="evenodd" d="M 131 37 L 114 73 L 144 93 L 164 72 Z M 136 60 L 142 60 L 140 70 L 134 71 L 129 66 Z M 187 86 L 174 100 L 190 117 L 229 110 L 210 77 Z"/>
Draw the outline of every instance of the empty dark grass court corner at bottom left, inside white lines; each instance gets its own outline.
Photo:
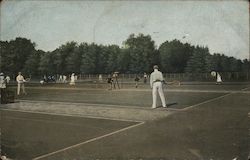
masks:
<path id="1" fill-rule="evenodd" d="M 14 159 L 32 159 L 126 128 L 136 122 L 1 111 L 2 150 Z"/>

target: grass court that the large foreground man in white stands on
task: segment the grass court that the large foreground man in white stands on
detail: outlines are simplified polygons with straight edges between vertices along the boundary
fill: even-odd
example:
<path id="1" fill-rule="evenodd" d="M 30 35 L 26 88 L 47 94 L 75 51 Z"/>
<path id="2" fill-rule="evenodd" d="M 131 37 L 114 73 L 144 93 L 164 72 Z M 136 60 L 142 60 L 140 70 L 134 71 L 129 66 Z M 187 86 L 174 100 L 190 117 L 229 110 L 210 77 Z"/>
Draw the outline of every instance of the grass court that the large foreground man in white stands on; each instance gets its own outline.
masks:
<path id="1" fill-rule="evenodd" d="M 165 96 L 171 108 L 185 108 L 199 102 L 215 98 L 231 91 L 246 88 L 242 85 L 182 85 L 180 87 L 165 87 Z M 152 93 L 148 85 L 141 89 L 122 88 L 120 90 L 91 89 L 78 86 L 68 87 L 64 84 L 49 86 L 32 86 L 27 89 L 28 96 L 21 96 L 21 100 L 41 100 L 59 102 L 79 102 L 113 104 L 125 106 L 151 107 Z M 159 98 L 158 98 L 159 100 Z M 159 101 L 160 102 L 160 101 Z M 160 104 L 160 103 L 159 103 Z"/>

